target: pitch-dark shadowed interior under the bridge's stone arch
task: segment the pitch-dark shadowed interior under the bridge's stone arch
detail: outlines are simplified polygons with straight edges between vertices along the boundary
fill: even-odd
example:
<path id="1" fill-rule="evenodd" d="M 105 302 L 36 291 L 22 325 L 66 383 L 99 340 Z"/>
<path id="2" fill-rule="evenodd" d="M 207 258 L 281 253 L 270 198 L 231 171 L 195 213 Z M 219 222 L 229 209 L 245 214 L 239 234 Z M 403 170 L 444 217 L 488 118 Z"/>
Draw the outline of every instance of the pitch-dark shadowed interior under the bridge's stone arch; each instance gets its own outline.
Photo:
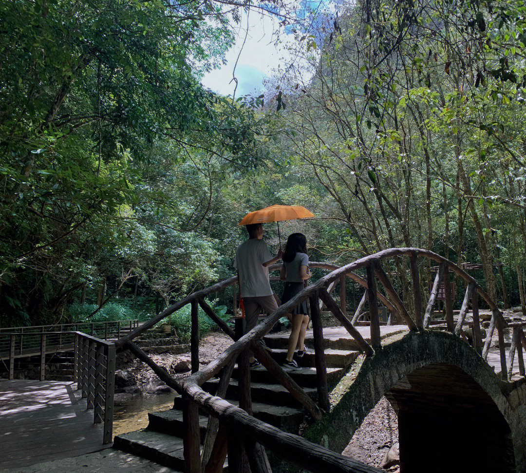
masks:
<path id="1" fill-rule="evenodd" d="M 386 397 L 398 414 L 400 473 L 516 471 L 508 423 L 459 367 L 418 368 Z"/>

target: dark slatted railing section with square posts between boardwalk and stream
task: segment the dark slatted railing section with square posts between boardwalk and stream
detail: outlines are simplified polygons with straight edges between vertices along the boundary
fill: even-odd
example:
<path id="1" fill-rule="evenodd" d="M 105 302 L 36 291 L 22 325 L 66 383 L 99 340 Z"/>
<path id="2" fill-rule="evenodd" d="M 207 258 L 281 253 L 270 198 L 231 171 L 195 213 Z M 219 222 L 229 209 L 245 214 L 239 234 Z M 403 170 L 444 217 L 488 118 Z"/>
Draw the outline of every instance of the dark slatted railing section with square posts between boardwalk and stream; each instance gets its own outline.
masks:
<path id="1" fill-rule="evenodd" d="M 75 332 L 74 382 L 93 409 L 94 424 L 104 424 L 104 444 L 113 441 L 113 397 L 115 391 L 115 345 Z"/>

